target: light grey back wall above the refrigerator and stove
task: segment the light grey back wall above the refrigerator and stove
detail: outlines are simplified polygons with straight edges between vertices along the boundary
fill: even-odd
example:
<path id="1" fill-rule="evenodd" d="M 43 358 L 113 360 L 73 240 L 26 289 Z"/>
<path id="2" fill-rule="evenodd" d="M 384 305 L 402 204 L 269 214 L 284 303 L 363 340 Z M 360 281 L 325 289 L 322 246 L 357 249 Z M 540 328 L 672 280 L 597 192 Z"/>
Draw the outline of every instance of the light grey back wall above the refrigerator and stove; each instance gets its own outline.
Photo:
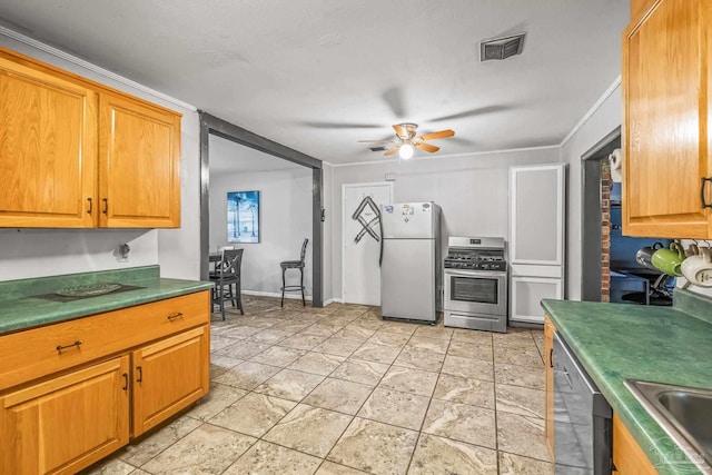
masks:
<path id="1" fill-rule="evenodd" d="M 506 238 L 510 167 L 558 161 L 558 148 L 552 147 L 332 167 L 330 207 L 327 207 L 333 236 L 332 293 L 325 290 L 325 300 L 342 298 L 342 185 L 384 181 L 385 174 L 396 174 L 395 202 L 435 201 L 441 206 L 445 251 L 447 236 Z"/>

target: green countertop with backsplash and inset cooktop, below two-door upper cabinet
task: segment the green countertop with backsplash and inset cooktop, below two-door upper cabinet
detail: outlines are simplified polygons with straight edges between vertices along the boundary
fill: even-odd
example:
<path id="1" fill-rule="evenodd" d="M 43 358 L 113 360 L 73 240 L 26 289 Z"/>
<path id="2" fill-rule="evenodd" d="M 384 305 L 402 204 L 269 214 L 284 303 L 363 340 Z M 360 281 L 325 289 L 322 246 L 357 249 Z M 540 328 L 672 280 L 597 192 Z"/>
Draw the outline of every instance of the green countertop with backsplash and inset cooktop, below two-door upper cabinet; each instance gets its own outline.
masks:
<path id="1" fill-rule="evenodd" d="M 73 286 L 122 284 L 142 287 L 71 301 L 38 297 Z M 134 267 L 0 283 L 0 335 L 192 294 L 212 287 L 209 281 L 160 278 L 158 266 Z"/>

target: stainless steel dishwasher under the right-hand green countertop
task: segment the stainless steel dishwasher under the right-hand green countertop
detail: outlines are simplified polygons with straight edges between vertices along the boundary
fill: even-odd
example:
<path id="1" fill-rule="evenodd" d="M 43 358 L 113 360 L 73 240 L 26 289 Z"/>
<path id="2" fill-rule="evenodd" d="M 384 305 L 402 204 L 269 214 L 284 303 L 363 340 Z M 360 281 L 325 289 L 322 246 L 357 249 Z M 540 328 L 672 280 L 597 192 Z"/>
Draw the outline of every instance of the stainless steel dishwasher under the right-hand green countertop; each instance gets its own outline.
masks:
<path id="1" fill-rule="evenodd" d="M 555 473 L 610 475 L 611 406 L 557 331 L 553 360 Z"/>

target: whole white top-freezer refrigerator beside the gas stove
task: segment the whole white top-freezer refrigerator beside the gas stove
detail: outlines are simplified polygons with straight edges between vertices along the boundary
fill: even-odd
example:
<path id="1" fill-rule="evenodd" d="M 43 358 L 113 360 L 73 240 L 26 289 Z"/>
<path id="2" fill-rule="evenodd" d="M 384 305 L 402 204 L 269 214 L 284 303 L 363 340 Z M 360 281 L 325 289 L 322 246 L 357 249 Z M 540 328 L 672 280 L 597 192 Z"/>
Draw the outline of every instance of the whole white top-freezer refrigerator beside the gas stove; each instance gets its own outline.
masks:
<path id="1" fill-rule="evenodd" d="M 382 206 L 380 315 L 436 321 L 442 309 L 441 208 L 432 201 Z"/>

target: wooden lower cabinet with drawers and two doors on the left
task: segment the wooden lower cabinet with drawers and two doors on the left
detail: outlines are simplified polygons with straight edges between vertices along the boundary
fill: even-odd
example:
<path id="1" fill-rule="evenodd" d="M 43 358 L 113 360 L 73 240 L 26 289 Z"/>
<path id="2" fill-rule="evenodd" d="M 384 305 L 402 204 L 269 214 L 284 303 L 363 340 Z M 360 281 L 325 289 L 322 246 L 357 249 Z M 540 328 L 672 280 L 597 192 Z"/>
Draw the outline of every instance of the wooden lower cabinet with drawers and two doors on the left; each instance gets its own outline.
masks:
<path id="1" fill-rule="evenodd" d="M 12 363 L 0 368 L 0 382 L 11 382 L 0 386 L 0 474 L 75 474 L 207 395 L 209 303 L 206 290 L 0 335 L 0 362 Z M 113 334 L 99 330 L 107 317 Z M 134 338 L 120 337 L 127 324 Z M 50 340 L 80 344 L 56 348 L 67 365 L 47 356 L 53 369 L 43 374 L 34 370 L 37 358 L 10 358 L 18 345 Z M 117 340 L 129 343 L 106 344 Z"/>

